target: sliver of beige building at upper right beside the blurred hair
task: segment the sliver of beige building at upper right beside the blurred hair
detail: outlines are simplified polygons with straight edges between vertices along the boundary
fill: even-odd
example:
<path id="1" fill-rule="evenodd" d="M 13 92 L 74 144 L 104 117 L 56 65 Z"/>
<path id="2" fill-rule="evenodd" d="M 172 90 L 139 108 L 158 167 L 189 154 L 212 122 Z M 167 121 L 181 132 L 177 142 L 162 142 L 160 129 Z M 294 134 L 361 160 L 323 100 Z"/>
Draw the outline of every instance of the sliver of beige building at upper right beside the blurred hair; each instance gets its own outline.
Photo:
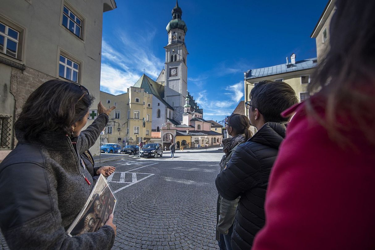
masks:
<path id="1" fill-rule="evenodd" d="M 329 50 L 329 29 L 333 13 L 335 13 L 336 10 L 335 2 L 336 0 L 328 1 L 326 8 L 324 8 L 324 11 L 320 16 L 317 25 L 311 33 L 311 38 L 315 38 L 315 41 L 317 43 L 318 62 L 320 62 L 322 58 L 324 58 L 325 54 Z"/>

